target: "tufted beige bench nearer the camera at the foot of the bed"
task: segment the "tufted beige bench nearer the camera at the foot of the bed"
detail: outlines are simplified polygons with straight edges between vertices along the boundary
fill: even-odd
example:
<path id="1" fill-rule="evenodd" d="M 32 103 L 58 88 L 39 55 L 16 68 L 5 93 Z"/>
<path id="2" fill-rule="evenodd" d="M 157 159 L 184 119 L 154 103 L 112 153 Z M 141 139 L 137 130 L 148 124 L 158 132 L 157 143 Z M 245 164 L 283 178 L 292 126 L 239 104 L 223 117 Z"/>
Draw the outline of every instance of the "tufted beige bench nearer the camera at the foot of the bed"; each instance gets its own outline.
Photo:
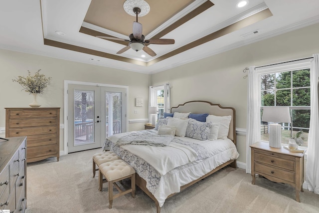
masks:
<path id="1" fill-rule="evenodd" d="M 106 178 L 103 181 L 103 176 Z M 131 178 L 131 189 L 122 191 L 116 182 Z M 123 160 L 115 160 L 107 163 L 103 163 L 99 166 L 99 190 L 102 191 L 102 185 L 105 182 L 109 182 L 109 209 L 112 209 L 113 199 L 116 199 L 122 195 L 132 193 L 132 197 L 135 198 L 135 170 Z M 113 184 L 119 191 L 118 194 L 113 195 Z"/>

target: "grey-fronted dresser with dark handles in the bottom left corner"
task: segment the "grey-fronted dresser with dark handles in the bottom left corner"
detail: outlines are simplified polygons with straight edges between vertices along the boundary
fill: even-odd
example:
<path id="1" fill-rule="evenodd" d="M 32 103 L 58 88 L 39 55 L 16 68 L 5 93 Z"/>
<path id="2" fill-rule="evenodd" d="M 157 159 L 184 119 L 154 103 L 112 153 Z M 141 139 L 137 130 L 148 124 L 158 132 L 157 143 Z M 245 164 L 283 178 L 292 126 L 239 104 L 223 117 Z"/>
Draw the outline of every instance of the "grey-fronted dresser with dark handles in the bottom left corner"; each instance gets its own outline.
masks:
<path id="1" fill-rule="evenodd" d="M 0 139 L 0 210 L 26 208 L 26 137 Z"/>

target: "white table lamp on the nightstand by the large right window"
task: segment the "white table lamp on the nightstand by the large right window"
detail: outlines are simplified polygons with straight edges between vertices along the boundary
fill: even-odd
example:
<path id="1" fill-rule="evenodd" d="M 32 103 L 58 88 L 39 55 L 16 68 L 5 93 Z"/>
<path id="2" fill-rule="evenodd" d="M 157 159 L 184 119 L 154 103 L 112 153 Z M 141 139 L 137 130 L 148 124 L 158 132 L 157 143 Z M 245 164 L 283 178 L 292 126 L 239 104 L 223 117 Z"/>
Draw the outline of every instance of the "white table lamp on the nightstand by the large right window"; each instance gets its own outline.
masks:
<path id="1" fill-rule="evenodd" d="M 281 124 L 291 123 L 289 107 L 264 107 L 262 121 L 272 122 L 269 125 L 269 146 L 281 148 Z"/>

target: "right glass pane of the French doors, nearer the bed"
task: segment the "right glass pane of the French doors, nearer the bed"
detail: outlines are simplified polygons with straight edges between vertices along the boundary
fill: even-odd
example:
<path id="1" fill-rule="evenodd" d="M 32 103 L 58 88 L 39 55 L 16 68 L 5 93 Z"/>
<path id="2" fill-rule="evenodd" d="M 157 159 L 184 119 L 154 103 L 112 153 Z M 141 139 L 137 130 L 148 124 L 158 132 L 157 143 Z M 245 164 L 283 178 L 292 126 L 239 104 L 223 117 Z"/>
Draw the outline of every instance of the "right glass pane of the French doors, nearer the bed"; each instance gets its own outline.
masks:
<path id="1" fill-rule="evenodd" d="M 122 93 L 106 92 L 105 96 L 106 135 L 122 132 Z"/>

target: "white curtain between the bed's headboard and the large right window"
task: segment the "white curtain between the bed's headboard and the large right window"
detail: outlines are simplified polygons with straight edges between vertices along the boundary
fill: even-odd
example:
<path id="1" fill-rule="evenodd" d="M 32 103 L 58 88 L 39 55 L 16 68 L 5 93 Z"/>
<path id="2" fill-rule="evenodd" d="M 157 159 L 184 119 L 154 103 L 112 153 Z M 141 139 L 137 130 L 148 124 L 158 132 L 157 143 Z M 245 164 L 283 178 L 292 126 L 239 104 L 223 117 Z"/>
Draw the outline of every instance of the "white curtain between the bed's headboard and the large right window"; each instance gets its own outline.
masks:
<path id="1" fill-rule="evenodd" d="M 251 173 L 250 145 L 260 141 L 260 79 L 255 66 L 248 71 L 247 133 L 246 133 L 246 173 Z"/>

